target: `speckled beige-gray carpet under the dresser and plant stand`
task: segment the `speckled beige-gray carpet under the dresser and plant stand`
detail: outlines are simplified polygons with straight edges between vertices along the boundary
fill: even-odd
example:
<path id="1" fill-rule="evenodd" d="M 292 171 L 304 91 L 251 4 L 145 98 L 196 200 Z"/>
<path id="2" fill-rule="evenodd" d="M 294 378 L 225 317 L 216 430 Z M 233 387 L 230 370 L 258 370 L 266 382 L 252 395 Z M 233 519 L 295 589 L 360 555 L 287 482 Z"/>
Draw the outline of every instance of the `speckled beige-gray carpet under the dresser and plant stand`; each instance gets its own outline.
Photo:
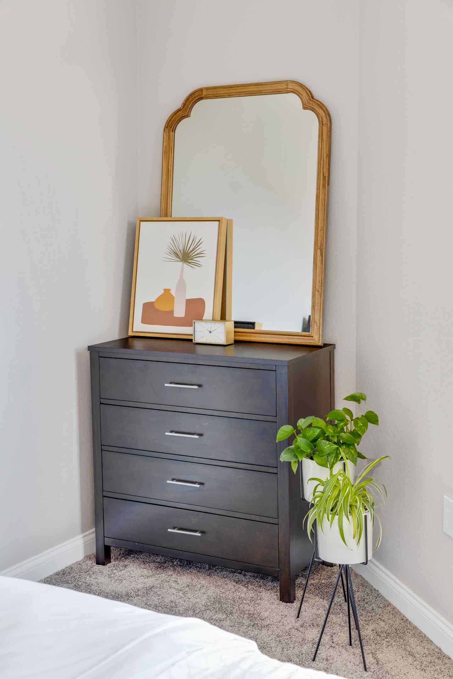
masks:
<path id="1" fill-rule="evenodd" d="M 316 662 L 312 655 L 336 579 L 335 568 L 318 566 L 308 585 L 299 621 L 297 602 L 278 601 L 278 581 L 243 571 L 112 548 L 109 566 L 94 555 L 43 580 L 162 613 L 202 618 L 255 640 L 279 660 L 322 669 L 348 679 L 453 679 L 453 659 L 369 585 L 352 573 L 368 672 L 357 632 L 348 645 L 346 604 L 337 591 Z M 304 575 L 297 579 L 300 598 Z"/>

